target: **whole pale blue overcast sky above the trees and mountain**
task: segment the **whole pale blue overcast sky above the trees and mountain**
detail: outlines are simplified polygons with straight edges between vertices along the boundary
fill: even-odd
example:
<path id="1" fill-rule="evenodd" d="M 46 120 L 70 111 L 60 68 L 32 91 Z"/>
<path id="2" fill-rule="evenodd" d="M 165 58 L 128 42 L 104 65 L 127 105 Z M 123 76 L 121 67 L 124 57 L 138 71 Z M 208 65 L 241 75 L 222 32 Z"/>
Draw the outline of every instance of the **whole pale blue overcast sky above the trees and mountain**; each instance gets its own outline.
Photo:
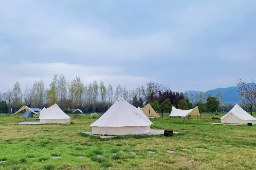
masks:
<path id="1" fill-rule="evenodd" d="M 0 0 L 0 91 L 52 74 L 174 91 L 256 81 L 255 0 Z"/>

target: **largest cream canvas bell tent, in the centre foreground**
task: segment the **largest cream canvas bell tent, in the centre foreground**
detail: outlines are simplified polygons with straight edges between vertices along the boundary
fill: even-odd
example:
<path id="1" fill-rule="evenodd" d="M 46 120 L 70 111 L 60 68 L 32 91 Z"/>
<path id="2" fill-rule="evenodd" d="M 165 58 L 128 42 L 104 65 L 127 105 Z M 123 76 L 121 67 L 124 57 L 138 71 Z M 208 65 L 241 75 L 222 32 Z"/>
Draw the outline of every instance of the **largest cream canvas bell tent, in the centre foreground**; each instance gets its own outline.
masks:
<path id="1" fill-rule="evenodd" d="M 152 122 L 136 107 L 118 97 L 115 103 L 90 126 L 94 135 L 143 135 Z"/>

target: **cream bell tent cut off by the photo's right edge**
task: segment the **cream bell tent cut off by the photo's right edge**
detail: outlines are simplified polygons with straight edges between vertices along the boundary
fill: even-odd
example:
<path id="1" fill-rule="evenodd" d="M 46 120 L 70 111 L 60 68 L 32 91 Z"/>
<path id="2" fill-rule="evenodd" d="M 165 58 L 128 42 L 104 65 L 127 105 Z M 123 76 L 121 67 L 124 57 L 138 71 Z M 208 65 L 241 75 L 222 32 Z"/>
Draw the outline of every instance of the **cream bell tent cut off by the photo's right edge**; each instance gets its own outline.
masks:
<path id="1" fill-rule="evenodd" d="M 225 114 L 221 119 L 221 123 L 228 124 L 256 124 L 256 118 L 244 111 L 238 104 L 236 104 L 231 111 Z"/>

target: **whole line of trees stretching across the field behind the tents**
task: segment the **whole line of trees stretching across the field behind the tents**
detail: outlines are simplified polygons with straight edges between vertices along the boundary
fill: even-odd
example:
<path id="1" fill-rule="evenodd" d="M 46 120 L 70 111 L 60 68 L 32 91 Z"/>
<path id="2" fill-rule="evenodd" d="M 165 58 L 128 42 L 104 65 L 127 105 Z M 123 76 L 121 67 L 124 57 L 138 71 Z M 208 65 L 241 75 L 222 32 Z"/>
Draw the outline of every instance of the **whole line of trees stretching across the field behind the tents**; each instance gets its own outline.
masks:
<path id="1" fill-rule="evenodd" d="M 255 104 L 253 102 L 256 101 L 253 98 L 256 96 L 254 94 L 256 87 L 248 89 L 242 82 L 238 84 L 238 87 L 240 88 L 240 99 L 243 101 L 241 104 L 253 109 Z M 84 84 L 79 76 L 67 81 L 63 74 L 54 73 L 48 87 L 45 86 L 44 80 L 40 79 L 27 85 L 22 91 L 20 83 L 17 81 L 7 92 L 0 92 L 0 112 L 10 111 L 10 108 L 17 110 L 23 105 L 42 109 L 55 103 L 63 110 L 81 109 L 85 112 L 105 112 L 119 96 L 135 107 L 143 107 L 144 104 L 150 103 L 154 110 L 162 113 L 162 116 L 164 111 L 170 113 L 172 106 L 183 110 L 198 106 L 200 112 L 215 112 L 217 110 L 227 112 L 233 107 L 230 103 L 222 102 L 220 91 L 213 99 L 210 98 L 212 96 L 203 92 L 196 92 L 195 95 L 193 92 L 190 94 L 174 92 L 170 90 L 169 86 L 153 81 L 148 81 L 145 85 L 133 90 L 128 90 L 125 86 L 122 87 L 118 84 L 113 90 L 112 84 L 105 85 L 103 81 L 94 80 Z M 218 106 L 210 109 L 207 107 L 209 101 L 217 103 Z"/>

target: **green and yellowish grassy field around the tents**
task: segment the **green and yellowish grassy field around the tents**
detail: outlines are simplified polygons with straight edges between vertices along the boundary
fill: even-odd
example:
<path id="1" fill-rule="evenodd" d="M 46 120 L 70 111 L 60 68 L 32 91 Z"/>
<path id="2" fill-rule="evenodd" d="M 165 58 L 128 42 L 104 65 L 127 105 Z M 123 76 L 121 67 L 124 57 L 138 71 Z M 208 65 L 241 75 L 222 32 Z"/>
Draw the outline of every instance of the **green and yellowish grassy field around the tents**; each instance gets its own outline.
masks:
<path id="1" fill-rule="evenodd" d="M 220 122 L 213 121 L 211 114 L 203 114 L 199 124 L 197 117 L 186 118 L 185 125 L 183 118 L 176 118 L 176 123 L 174 118 L 151 119 L 151 128 L 184 133 L 171 138 L 159 135 L 108 139 L 80 133 L 91 131 L 89 125 L 95 119 L 88 115 L 71 115 L 71 124 L 23 126 L 16 125 L 22 121 L 20 115 L 8 116 L 0 115 L 1 170 L 256 169 L 256 126 L 210 125 Z"/>

